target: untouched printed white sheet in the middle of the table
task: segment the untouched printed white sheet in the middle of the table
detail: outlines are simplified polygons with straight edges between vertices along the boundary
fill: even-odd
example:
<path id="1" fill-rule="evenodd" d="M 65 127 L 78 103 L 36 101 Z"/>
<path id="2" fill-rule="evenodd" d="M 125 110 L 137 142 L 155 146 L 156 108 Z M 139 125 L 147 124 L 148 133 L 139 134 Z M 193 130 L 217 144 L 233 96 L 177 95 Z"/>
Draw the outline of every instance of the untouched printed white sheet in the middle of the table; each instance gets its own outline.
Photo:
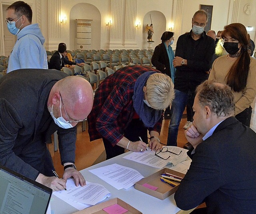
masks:
<path id="1" fill-rule="evenodd" d="M 111 164 L 89 171 L 118 190 L 128 189 L 144 178 L 137 170 L 119 164 Z"/>

